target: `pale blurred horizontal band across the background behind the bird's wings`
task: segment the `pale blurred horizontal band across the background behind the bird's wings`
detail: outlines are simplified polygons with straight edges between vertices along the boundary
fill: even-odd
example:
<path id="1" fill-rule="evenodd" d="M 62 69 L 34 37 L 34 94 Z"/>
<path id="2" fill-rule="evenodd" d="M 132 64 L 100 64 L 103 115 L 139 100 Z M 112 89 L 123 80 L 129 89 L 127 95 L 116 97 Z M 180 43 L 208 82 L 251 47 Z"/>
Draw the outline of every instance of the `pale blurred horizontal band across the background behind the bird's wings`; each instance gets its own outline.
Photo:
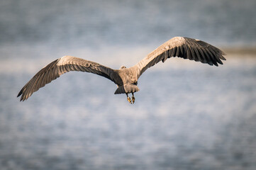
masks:
<path id="1" fill-rule="evenodd" d="M 68 50 L 65 47 L 52 48 L 49 45 L 17 45 L 15 50 L 14 45 L 8 45 L 6 47 L 1 46 L 0 52 L 0 73 L 14 74 L 14 73 L 29 73 L 35 74 L 40 68 L 53 60 L 60 58 L 64 55 L 72 55 L 80 57 L 85 60 L 91 60 L 104 64 L 113 69 L 118 69 L 120 65 L 126 64 L 127 67 L 132 67 L 133 64 L 142 60 L 148 53 L 155 50 L 155 47 L 151 45 L 141 45 L 138 47 L 116 47 L 108 46 L 101 47 L 95 51 L 94 48 L 72 48 Z M 216 45 L 219 47 L 218 45 Z M 233 67 L 243 65 L 243 67 L 255 67 L 256 66 L 256 46 L 255 47 L 219 47 L 225 52 L 226 61 L 223 61 L 223 67 L 227 64 Z M 108 55 L 110 54 L 111 55 Z M 107 55 L 106 55 L 107 54 Z M 194 67 L 200 64 L 199 62 L 191 62 L 188 60 L 182 60 L 178 57 L 168 60 L 165 64 L 157 64 L 154 69 L 150 69 L 150 72 L 157 70 L 169 70 L 169 69 L 194 69 Z M 200 64 L 199 67 L 208 67 L 207 64 Z M 220 66 L 222 67 L 222 66 Z"/>

